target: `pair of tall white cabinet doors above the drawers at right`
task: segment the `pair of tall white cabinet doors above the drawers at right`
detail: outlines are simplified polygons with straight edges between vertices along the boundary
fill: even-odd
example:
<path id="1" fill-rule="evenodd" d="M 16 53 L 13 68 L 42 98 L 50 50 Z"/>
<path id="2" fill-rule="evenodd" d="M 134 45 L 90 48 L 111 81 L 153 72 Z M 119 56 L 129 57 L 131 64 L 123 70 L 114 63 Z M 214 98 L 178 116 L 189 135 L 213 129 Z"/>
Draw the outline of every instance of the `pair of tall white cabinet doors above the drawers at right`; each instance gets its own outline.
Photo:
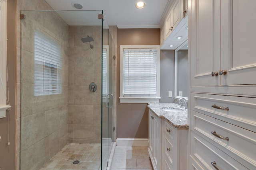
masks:
<path id="1" fill-rule="evenodd" d="M 256 84 L 255 0 L 192 0 L 191 86 Z"/>

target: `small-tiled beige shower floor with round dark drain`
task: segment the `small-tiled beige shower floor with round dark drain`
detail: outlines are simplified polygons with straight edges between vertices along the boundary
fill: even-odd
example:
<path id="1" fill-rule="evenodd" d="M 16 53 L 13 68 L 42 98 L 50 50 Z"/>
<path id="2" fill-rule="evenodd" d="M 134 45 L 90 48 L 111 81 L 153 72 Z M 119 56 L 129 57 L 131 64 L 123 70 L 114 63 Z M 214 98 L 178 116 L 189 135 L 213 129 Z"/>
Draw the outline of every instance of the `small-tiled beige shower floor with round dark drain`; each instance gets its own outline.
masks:
<path id="1" fill-rule="evenodd" d="M 98 170 L 101 144 L 68 143 L 40 170 Z M 73 164 L 79 160 L 80 163 Z"/>

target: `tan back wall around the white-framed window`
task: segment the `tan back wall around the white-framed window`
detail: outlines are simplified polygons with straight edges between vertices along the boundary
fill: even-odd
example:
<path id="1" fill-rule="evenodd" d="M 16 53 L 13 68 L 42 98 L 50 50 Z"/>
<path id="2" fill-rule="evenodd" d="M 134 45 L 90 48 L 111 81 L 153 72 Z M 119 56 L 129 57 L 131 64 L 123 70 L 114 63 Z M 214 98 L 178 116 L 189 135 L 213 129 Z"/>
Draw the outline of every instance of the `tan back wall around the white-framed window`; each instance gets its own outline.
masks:
<path id="1" fill-rule="evenodd" d="M 148 138 L 147 103 L 120 103 L 120 45 L 158 45 L 160 29 L 117 30 L 117 138 Z"/>

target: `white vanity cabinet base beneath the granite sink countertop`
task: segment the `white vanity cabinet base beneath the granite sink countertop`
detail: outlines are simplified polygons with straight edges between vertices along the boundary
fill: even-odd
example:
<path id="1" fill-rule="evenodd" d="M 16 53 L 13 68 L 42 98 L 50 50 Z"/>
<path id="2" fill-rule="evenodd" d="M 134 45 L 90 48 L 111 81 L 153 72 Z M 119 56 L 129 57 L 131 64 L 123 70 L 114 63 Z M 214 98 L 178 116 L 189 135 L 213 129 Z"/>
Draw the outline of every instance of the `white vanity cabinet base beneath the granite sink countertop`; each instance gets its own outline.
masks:
<path id="1" fill-rule="evenodd" d="M 154 170 L 186 170 L 188 129 L 175 128 L 149 109 L 148 152 Z"/>

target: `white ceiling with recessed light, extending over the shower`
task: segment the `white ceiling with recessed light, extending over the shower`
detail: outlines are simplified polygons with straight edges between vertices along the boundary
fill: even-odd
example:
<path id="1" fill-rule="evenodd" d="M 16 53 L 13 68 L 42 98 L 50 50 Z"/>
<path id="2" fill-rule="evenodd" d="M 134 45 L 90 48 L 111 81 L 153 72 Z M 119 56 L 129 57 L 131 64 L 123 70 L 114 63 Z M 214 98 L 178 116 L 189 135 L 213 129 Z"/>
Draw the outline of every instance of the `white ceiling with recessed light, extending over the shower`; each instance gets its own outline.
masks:
<path id="1" fill-rule="evenodd" d="M 54 10 L 77 10 L 74 3 L 81 4 L 81 10 L 103 10 L 104 21 L 118 28 L 160 28 L 162 18 L 172 0 L 142 0 L 144 9 L 137 9 L 139 0 L 46 0 Z M 81 11 L 78 10 L 78 11 Z M 168 12 L 168 11 L 167 11 Z M 90 25 L 98 23 L 97 14 L 101 11 L 83 14 L 78 12 L 59 12 L 69 25 Z M 94 23 L 94 21 L 96 23 Z M 87 23 L 87 24 L 85 24 Z"/>

